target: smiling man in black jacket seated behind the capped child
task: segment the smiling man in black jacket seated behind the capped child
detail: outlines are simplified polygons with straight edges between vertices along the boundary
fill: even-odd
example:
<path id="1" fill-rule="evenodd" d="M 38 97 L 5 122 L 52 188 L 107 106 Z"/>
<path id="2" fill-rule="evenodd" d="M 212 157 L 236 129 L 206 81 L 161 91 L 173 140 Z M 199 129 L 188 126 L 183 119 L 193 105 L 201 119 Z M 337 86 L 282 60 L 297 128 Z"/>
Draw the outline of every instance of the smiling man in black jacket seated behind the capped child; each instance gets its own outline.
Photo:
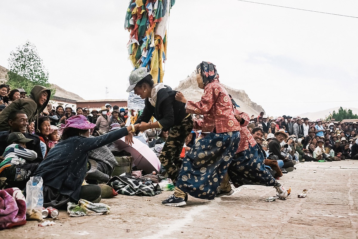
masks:
<path id="1" fill-rule="evenodd" d="M 40 163 L 43 160 L 40 147 L 40 138 L 38 137 L 38 135 L 29 134 L 26 132 L 27 126 L 29 125 L 29 120 L 25 112 L 21 110 L 11 111 L 8 115 L 8 123 L 10 126 L 10 130 L 0 132 L 0 156 L 3 155 L 6 146 L 8 146 L 8 144 L 6 143 L 6 137 L 8 137 L 10 133 L 21 132 L 25 135 L 26 138 L 33 139 L 31 142 L 26 143 L 27 149 L 33 150 L 37 153 L 37 158 L 32 161 L 32 163 Z"/>

